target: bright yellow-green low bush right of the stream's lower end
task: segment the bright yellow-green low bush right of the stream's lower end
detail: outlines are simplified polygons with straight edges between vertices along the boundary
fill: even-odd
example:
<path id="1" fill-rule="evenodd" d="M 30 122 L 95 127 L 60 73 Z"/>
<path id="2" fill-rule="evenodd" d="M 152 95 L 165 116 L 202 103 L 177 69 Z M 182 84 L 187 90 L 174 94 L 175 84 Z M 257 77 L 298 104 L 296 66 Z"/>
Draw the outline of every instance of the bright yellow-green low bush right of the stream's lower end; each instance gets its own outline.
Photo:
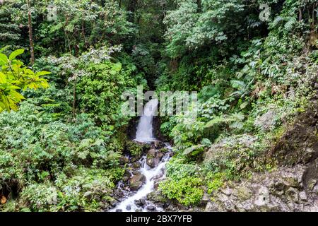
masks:
<path id="1" fill-rule="evenodd" d="M 167 198 L 176 199 L 184 206 L 196 205 L 201 201 L 204 191 L 202 181 L 196 177 L 182 178 L 180 180 L 167 179 L 159 185 L 160 191 Z"/>

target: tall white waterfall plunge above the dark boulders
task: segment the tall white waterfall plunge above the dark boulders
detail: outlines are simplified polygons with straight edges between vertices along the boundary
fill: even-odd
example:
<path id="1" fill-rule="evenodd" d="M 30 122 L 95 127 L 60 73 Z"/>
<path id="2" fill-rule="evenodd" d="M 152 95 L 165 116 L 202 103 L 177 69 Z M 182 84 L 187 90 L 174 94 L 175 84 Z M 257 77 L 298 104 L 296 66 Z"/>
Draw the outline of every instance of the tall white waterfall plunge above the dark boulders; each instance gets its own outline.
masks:
<path id="1" fill-rule="evenodd" d="M 153 116 L 158 109 L 158 99 L 150 100 L 143 108 L 143 116 L 140 118 L 135 141 L 154 141 L 153 136 Z"/>

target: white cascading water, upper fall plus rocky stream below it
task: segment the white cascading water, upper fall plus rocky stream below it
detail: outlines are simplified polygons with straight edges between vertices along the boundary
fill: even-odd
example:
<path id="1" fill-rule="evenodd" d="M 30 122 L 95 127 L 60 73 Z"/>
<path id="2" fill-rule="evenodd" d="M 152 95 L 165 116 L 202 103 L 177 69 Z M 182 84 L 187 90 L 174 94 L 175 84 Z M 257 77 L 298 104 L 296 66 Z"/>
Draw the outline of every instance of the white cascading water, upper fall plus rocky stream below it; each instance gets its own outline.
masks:
<path id="1" fill-rule="evenodd" d="M 158 109 L 158 100 L 150 100 L 143 109 L 143 116 L 139 121 L 139 125 L 136 131 L 135 141 L 141 143 L 151 143 L 156 141 L 153 136 L 153 116 Z M 158 208 L 153 203 L 146 201 L 147 194 L 154 191 L 154 183 L 157 179 L 163 179 L 165 177 L 165 164 L 170 159 L 171 147 L 169 144 L 165 144 L 165 148 L 169 150 L 162 157 L 158 166 L 149 167 L 146 163 L 147 157 L 143 155 L 139 160 L 140 169 L 139 173 L 146 177 L 146 180 L 138 191 L 129 191 L 129 189 L 124 189 L 124 184 L 119 182 L 117 188 L 124 193 L 124 199 L 115 206 L 111 211 L 147 211 L 151 209 L 153 211 L 162 211 L 162 208 Z M 137 201 L 143 199 L 146 203 L 141 207 L 136 205 Z M 151 208 L 149 208 L 151 206 Z"/>

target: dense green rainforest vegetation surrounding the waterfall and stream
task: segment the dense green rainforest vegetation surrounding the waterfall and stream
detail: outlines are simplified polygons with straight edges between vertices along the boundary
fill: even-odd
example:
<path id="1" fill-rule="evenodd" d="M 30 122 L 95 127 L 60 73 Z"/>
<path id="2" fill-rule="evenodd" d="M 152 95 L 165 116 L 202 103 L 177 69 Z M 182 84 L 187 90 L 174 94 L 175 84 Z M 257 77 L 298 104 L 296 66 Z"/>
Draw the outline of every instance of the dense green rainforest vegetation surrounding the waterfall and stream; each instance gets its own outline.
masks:
<path id="1" fill-rule="evenodd" d="M 231 186 L 310 166 L 279 197 L 318 211 L 315 0 L 0 0 L 0 210 L 109 210 L 143 151 L 121 111 L 138 85 L 198 92 L 195 120 L 158 117 L 173 157 L 153 200 L 223 210 Z"/>

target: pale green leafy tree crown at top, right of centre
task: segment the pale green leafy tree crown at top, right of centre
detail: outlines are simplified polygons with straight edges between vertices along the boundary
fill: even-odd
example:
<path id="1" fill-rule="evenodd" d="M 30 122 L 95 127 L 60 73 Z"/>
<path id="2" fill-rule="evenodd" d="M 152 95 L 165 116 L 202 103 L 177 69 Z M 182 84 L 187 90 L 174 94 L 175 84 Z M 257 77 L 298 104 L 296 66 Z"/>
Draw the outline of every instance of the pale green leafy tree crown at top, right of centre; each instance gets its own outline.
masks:
<path id="1" fill-rule="evenodd" d="M 228 40 L 231 30 L 242 28 L 240 23 L 233 23 L 232 16 L 242 17 L 243 2 L 226 1 L 177 1 L 178 8 L 165 17 L 167 25 L 167 54 L 177 58 L 204 44 L 220 43 Z M 237 20 L 240 21 L 240 20 Z M 231 34 L 232 35 L 232 34 Z M 238 34 L 237 34 L 238 35 Z"/>

